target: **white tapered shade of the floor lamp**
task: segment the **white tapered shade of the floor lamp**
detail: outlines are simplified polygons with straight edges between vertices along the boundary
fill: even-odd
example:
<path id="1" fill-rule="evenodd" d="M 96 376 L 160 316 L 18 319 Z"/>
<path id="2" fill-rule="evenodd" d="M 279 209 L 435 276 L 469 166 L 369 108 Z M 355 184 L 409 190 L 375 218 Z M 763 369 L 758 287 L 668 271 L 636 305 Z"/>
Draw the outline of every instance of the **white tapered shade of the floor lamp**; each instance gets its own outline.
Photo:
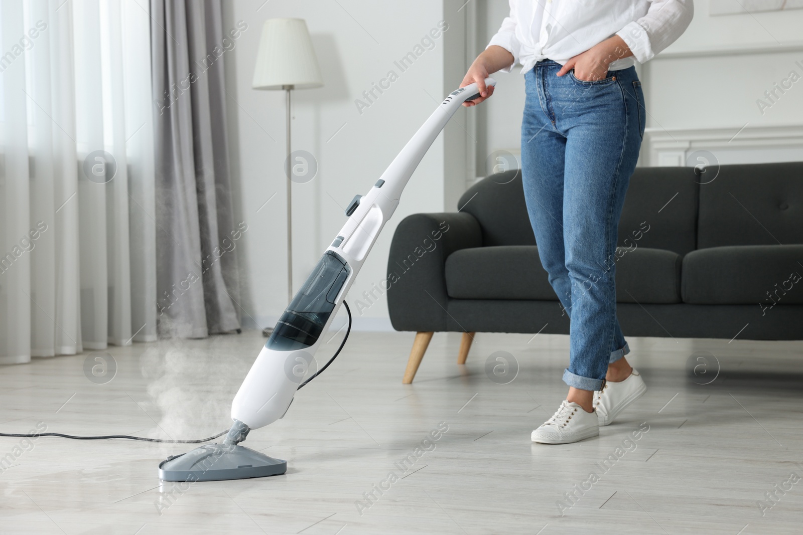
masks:
<path id="1" fill-rule="evenodd" d="M 262 26 L 251 87 L 309 89 L 322 85 L 307 22 L 303 18 L 267 19 Z"/>

